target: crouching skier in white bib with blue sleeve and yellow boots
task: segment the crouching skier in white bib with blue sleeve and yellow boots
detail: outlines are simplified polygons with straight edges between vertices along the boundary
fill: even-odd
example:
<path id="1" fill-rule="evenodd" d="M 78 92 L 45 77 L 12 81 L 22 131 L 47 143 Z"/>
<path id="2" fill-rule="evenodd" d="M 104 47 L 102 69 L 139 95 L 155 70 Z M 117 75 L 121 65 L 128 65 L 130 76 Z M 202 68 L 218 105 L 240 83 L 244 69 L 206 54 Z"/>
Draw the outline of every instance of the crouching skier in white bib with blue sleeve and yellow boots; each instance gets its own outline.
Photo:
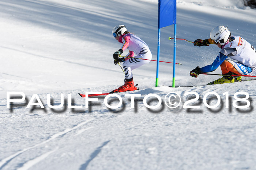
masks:
<path id="1" fill-rule="evenodd" d="M 240 36 L 231 36 L 229 29 L 225 26 L 218 26 L 212 29 L 210 39 L 197 39 L 194 46 L 209 46 L 216 44 L 221 51 L 214 62 L 208 66 L 198 66 L 190 71 L 192 77 L 197 78 L 199 74 L 212 72 L 221 66 L 222 78 L 208 84 L 223 84 L 239 82 L 241 76 L 231 75 L 256 75 L 256 50 L 245 39 Z M 237 62 L 227 59 L 230 57 Z"/>

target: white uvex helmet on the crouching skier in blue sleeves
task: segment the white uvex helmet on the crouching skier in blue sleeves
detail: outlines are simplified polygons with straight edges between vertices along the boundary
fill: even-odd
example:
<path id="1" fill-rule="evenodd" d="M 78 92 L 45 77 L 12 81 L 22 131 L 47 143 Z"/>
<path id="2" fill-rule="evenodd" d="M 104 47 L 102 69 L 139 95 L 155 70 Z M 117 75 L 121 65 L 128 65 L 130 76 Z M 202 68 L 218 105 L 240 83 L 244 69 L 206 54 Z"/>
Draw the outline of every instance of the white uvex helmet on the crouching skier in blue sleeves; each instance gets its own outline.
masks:
<path id="1" fill-rule="evenodd" d="M 230 38 L 231 33 L 229 31 L 229 28 L 226 26 L 218 26 L 211 30 L 210 37 L 214 44 L 221 44 L 223 46 L 227 40 Z"/>

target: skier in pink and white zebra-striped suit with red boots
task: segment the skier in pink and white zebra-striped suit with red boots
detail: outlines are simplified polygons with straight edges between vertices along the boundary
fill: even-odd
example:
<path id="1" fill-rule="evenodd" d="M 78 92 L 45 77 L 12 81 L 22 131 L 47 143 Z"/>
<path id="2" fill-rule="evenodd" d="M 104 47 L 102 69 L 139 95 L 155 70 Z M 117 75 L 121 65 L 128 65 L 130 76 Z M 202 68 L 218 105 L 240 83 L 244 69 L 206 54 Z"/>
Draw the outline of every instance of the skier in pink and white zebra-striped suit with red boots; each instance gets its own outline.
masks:
<path id="1" fill-rule="evenodd" d="M 123 62 L 123 68 L 125 72 L 124 85 L 114 90 L 114 92 L 137 90 L 133 83 L 132 70 L 146 63 L 149 63 L 149 60 L 152 59 L 151 51 L 142 39 L 128 32 L 125 25 L 116 25 L 116 27 L 113 28 L 112 33 L 114 38 L 119 43 L 123 44 L 123 46 L 113 54 L 114 64 Z M 128 49 L 129 53 L 125 57 L 119 58 L 119 56 L 124 52 L 125 49 Z M 132 58 L 133 56 L 134 58 Z M 142 58 L 148 60 L 135 58 Z"/>

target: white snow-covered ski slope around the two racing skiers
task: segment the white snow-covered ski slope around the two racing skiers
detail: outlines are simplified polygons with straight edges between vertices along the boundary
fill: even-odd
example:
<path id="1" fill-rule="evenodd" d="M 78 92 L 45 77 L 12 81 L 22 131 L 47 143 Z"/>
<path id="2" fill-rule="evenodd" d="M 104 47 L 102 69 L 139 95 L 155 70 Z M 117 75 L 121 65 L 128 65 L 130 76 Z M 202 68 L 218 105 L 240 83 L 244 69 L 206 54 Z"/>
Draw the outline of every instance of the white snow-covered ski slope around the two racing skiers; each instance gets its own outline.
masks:
<path id="1" fill-rule="evenodd" d="M 150 47 L 157 57 L 157 0 L 1 0 L 0 1 L 0 169 L 255 169 L 256 82 L 178 87 L 172 84 L 173 65 L 160 63 L 155 86 L 156 62 L 133 71 L 140 91 L 120 94 L 123 105 L 109 109 L 105 96 L 89 102 L 78 92 L 111 91 L 123 84 L 124 75 L 113 64 L 113 52 L 121 47 L 112 28 L 124 24 Z M 206 39 L 212 28 L 226 25 L 233 35 L 256 46 L 256 11 L 240 0 L 177 0 L 177 38 Z M 162 61 L 173 61 L 173 25 L 161 28 Z M 126 53 L 127 51 L 125 51 Z M 217 46 L 195 47 L 177 40 L 176 86 L 203 85 L 219 76 L 189 76 L 196 66 L 215 59 Z M 213 73 L 220 74 L 218 68 Z M 7 108 L 7 91 L 21 91 L 26 100 Z M 182 108 L 195 95 L 200 100 Z M 236 109 L 236 92 L 249 94 L 251 106 Z M 181 105 L 167 107 L 169 92 L 181 96 Z M 221 104 L 209 110 L 203 102 L 207 92 L 221 96 Z M 229 93 L 229 108 L 224 92 Z M 26 108 L 37 94 L 45 108 Z M 59 105 L 64 95 L 64 106 Z M 72 105 L 68 108 L 68 95 Z M 125 94 L 141 94 L 131 98 Z M 159 108 L 148 109 L 143 98 L 161 97 Z M 20 98 L 20 96 L 19 96 Z M 208 104 L 214 105 L 217 99 Z M 151 100 L 150 100 L 151 99 Z M 157 104 L 155 98 L 148 103 Z M 109 98 L 117 105 L 116 98 Z M 37 102 L 37 100 L 34 100 Z"/>

